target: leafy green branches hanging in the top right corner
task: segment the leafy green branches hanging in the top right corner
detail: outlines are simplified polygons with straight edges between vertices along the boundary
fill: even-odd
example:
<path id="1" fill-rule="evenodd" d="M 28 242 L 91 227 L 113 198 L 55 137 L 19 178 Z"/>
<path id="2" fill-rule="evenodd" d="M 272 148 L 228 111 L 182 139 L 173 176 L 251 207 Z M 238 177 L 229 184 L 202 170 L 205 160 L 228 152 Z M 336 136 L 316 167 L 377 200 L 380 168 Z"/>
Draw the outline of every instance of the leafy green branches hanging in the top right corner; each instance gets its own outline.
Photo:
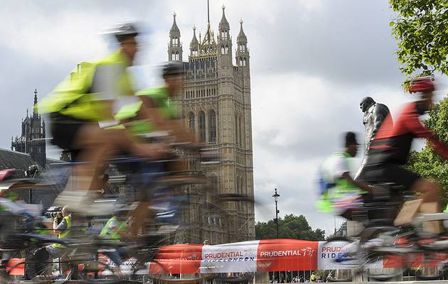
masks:
<path id="1" fill-rule="evenodd" d="M 390 26 L 402 72 L 448 75 L 448 1 L 390 0 L 390 6 L 397 13 Z"/>

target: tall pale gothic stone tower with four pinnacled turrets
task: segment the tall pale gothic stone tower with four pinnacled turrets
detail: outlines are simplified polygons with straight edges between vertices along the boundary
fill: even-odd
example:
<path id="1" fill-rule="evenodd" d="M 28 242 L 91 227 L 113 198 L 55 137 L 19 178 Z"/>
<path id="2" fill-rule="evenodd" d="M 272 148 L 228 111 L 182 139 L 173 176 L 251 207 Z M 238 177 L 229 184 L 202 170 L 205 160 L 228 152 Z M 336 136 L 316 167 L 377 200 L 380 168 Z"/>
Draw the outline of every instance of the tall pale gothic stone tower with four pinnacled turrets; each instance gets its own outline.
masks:
<path id="1" fill-rule="evenodd" d="M 236 65 L 233 65 L 235 58 Z M 183 62 L 181 32 L 174 22 L 169 32 L 168 59 Z M 186 126 L 196 133 L 205 148 L 217 148 L 218 164 L 200 165 L 220 193 L 240 193 L 253 197 L 252 122 L 250 103 L 250 56 L 240 21 L 235 57 L 230 24 L 223 16 L 215 38 L 208 19 L 203 38 L 190 43 L 188 61 L 183 62 L 185 84 L 180 96 Z M 190 195 L 185 221 L 192 229 L 183 242 L 211 244 L 255 239 L 254 204 L 225 202 L 224 211 L 206 209 L 206 197 Z"/>

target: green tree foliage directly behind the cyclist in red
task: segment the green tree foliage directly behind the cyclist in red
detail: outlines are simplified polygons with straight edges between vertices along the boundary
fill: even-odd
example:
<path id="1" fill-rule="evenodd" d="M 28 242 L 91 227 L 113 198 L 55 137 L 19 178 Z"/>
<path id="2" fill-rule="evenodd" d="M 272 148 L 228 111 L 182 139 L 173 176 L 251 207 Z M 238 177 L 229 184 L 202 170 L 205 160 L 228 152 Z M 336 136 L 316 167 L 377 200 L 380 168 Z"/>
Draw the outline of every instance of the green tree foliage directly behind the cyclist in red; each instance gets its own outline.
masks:
<path id="1" fill-rule="evenodd" d="M 441 141 L 448 143 L 448 97 L 440 104 L 434 105 L 425 124 L 439 136 Z M 407 168 L 419 173 L 423 178 L 439 182 L 444 192 L 443 201 L 445 204 L 448 202 L 448 162 L 432 148 L 427 146 L 420 152 L 413 151 Z"/>

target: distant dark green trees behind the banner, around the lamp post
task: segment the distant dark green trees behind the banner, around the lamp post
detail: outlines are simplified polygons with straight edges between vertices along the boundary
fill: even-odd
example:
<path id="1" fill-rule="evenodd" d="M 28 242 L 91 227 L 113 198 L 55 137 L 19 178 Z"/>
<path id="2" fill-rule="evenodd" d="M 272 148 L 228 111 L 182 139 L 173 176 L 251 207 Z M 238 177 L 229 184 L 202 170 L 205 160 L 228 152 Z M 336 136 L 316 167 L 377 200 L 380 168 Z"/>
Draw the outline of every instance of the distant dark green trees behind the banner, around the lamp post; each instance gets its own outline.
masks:
<path id="1" fill-rule="evenodd" d="M 255 225 L 255 239 L 276 239 L 277 226 L 274 220 L 257 222 Z M 325 231 L 311 229 L 303 215 L 289 214 L 284 219 L 279 218 L 280 239 L 301 239 L 307 241 L 324 241 Z"/>

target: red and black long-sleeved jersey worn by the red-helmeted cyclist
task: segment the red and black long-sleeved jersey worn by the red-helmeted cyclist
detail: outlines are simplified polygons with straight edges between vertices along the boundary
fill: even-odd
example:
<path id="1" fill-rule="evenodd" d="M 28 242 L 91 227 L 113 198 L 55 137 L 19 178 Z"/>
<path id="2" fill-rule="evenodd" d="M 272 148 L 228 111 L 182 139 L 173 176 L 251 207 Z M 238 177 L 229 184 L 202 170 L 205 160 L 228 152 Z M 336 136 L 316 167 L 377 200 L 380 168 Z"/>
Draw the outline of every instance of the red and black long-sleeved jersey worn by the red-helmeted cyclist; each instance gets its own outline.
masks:
<path id="1" fill-rule="evenodd" d="M 370 153 L 381 153 L 381 160 L 384 162 L 404 165 L 414 138 L 427 138 L 432 148 L 448 159 L 448 146 L 441 143 L 437 136 L 422 124 L 415 102 L 402 109 L 395 124 L 392 116 L 388 114 L 370 145 Z"/>

